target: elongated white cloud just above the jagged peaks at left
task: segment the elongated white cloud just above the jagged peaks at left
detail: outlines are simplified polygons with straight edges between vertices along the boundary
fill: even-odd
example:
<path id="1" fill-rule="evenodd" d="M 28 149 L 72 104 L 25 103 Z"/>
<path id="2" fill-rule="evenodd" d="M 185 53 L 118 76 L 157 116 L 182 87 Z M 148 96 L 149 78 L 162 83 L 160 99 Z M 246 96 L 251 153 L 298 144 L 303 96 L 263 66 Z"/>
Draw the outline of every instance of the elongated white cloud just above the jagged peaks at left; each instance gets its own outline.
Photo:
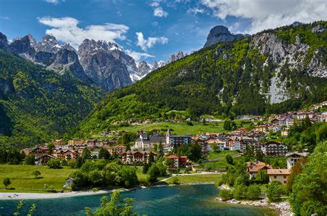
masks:
<path id="1" fill-rule="evenodd" d="M 55 36 L 59 41 L 70 43 L 77 47 L 84 39 L 95 39 L 115 42 L 115 39 L 125 40 L 128 26 L 114 23 L 104 23 L 103 25 L 88 25 L 79 28 L 79 21 L 72 17 L 39 18 L 39 23 L 48 25 L 51 29 L 46 30 L 46 34 Z"/>

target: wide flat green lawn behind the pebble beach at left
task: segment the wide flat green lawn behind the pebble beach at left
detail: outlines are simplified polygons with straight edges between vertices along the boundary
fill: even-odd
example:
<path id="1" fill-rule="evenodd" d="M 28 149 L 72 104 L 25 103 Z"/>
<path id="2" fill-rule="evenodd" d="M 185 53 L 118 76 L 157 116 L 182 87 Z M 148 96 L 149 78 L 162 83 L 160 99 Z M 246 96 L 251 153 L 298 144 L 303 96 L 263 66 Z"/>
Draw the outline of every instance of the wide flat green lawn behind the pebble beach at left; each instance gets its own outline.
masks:
<path id="1" fill-rule="evenodd" d="M 39 170 L 41 175 L 34 179 L 32 171 Z M 32 165 L 8 165 L 0 164 L 0 188 L 3 189 L 2 184 L 4 177 L 9 177 L 11 184 L 8 188 L 15 188 L 15 190 L 0 190 L 0 192 L 35 192 L 32 190 L 44 190 L 44 184 L 54 186 L 55 190 L 63 189 L 66 184 L 66 178 L 70 173 L 75 171 L 70 167 L 63 167 L 63 169 L 49 169 L 48 166 L 32 166 Z M 38 193 L 42 193 L 39 191 Z M 43 192 L 44 193 L 44 192 Z"/>

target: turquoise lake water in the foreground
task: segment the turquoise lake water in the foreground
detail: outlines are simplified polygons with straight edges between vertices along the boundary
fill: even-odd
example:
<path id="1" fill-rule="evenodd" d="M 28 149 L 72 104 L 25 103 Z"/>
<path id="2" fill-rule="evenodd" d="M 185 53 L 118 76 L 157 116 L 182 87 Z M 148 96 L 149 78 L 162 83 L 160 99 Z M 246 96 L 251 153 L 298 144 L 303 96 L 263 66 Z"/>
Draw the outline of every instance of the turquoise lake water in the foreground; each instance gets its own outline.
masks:
<path id="1" fill-rule="evenodd" d="M 215 201 L 218 190 L 214 185 L 166 186 L 122 192 L 135 199 L 140 215 L 276 215 L 275 210 L 252 206 L 222 204 Z M 109 194 L 108 194 L 109 195 Z M 83 208 L 98 208 L 102 195 L 57 199 L 26 199 L 23 214 L 31 204 L 37 204 L 34 215 L 85 215 Z M 0 215 L 12 215 L 18 200 L 0 200 Z"/>

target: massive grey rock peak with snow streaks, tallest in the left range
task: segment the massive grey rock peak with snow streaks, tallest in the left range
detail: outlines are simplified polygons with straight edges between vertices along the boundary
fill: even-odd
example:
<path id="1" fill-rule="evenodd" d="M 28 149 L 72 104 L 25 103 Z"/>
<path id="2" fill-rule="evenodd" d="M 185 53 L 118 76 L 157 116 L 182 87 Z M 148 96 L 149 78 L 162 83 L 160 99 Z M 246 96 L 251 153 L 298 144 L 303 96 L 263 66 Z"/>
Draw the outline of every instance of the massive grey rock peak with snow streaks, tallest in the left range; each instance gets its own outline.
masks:
<path id="1" fill-rule="evenodd" d="M 85 39 L 78 56 L 86 76 L 103 89 L 111 91 L 132 83 L 130 72 L 135 72 L 135 62 L 117 44 Z"/>

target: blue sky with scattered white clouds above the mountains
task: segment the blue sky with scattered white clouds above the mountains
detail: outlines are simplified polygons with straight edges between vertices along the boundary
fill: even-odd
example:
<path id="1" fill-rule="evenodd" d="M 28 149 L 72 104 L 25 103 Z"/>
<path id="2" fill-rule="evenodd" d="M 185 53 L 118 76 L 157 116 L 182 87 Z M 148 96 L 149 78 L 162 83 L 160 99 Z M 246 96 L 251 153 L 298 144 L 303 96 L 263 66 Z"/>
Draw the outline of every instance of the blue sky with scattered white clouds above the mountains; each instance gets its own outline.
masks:
<path id="1" fill-rule="evenodd" d="M 45 34 L 75 47 L 83 39 L 118 43 L 135 61 L 168 60 L 206 43 L 211 28 L 255 34 L 327 20 L 326 0 L 1 0 L 0 32 L 12 40 Z"/>

